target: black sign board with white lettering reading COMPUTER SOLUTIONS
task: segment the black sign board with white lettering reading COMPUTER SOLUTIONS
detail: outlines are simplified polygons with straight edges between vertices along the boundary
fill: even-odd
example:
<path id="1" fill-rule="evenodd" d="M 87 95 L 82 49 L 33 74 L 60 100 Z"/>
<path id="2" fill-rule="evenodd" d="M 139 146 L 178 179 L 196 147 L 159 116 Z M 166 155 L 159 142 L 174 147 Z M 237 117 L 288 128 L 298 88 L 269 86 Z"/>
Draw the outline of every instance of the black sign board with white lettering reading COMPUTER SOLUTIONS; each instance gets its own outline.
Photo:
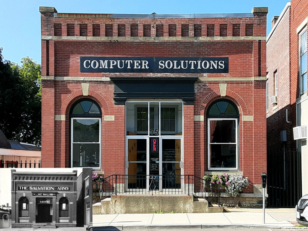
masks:
<path id="1" fill-rule="evenodd" d="M 80 72 L 228 73 L 228 57 L 80 57 Z"/>

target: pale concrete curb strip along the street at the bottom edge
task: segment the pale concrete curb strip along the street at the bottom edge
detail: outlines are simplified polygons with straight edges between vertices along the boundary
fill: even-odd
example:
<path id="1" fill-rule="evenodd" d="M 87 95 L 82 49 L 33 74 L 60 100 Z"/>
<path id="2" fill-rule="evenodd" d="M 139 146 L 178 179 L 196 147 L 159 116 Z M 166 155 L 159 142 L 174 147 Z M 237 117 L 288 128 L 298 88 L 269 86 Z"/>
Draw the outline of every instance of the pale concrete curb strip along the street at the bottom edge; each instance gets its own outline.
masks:
<path id="1" fill-rule="evenodd" d="M 296 226 L 276 226 L 276 225 L 240 225 L 240 224 L 197 224 L 197 225 L 106 225 L 93 227 L 93 231 L 116 231 L 116 230 L 157 230 L 157 229 L 307 229 Z"/>

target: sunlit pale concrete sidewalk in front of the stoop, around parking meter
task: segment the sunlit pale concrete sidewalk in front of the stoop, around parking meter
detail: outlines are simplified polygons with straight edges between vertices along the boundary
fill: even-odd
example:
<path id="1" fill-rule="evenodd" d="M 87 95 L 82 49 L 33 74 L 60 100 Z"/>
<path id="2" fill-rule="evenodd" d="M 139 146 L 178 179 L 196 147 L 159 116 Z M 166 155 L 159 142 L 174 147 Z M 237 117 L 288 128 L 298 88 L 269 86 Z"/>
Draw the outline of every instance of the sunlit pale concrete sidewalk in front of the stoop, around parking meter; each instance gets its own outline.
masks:
<path id="1" fill-rule="evenodd" d="M 224 213 L 150 213 L 93 215 L 103 229 L 296 228 L 295 209 L 225 209 Z M 108 228 L 107 228 L 108 227 Z M 103 230 L 102 229 L 102 230 Z"/>

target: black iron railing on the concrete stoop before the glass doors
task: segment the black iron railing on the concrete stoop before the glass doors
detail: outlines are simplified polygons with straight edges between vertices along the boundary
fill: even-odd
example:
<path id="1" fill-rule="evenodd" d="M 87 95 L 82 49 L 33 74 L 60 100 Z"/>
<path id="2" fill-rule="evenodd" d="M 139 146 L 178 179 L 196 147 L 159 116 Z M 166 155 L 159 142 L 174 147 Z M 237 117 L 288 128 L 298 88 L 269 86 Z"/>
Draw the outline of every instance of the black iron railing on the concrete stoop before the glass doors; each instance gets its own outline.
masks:
<path id="1" fill-rule="evenodd" d="M 111 175 L 93 183 L 93 203 L 111 195 L 188 195 L 220 204 L 220 185 L 194 175 Z"/>

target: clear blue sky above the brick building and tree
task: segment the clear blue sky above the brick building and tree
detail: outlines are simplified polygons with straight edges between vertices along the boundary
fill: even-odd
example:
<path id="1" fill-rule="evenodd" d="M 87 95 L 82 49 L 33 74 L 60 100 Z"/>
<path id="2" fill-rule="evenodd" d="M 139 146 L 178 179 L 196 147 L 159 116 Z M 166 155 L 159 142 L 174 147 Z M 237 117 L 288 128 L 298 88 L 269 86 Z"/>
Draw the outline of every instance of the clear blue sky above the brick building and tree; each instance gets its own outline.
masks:
<path id="1" fill-rule="evenodd" d="M 254 6 L 268 6 L 267 34 L 271 19 L 280 15 L 289 0 L 0 0 L 0 47 L 4 59 L 20 63 L 29 56 L 41 63 L 39 6 L 54 6 L 59 13 L 118 13 L 118 14 L 193 14 L 250 13 Z"/>

